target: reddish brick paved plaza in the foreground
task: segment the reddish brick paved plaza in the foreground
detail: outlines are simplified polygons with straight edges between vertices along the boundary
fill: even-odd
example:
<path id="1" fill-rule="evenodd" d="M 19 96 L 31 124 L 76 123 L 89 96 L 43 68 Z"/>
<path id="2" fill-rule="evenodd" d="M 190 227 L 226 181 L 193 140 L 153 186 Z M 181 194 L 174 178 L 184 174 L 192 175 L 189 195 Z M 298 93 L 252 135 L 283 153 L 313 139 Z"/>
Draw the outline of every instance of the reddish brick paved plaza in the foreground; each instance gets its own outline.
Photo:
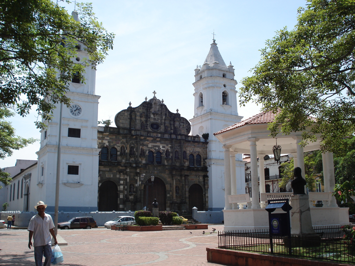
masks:
<path id="1" fill-rule="evenodd" d="M 216 233 L 209 232 L 216 228 Z M 217 231 L 223 225 L 210 225 L 208 230 L 172 230 L 154 232 L 59 230 L 67 242 L 61 246 L 63 266 L 116 265 L 191 265 L 217 266 L 207 262 L 206 248 L 218 246 Z M 192 232 L 192 234 L 190 234 Z M 34 265 L 33 248 L 28 249 L 28 231 L 0 229 L 0 265 Z M 43 260 L 44 261 L 44 260 Z"/>

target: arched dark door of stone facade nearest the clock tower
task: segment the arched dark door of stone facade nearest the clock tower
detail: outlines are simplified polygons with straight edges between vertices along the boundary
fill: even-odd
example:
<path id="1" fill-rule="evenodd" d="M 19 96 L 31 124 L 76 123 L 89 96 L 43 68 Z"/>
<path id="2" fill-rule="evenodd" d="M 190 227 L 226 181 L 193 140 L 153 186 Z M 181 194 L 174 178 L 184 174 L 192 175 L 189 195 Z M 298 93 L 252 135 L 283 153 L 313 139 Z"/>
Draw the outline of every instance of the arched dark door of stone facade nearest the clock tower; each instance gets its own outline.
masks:
<path id="1" fill-rule="evenodd" d="M 105 181 L 100 185 L 99 211 L 118 211 L 118 189 L 112 181 Z"/>

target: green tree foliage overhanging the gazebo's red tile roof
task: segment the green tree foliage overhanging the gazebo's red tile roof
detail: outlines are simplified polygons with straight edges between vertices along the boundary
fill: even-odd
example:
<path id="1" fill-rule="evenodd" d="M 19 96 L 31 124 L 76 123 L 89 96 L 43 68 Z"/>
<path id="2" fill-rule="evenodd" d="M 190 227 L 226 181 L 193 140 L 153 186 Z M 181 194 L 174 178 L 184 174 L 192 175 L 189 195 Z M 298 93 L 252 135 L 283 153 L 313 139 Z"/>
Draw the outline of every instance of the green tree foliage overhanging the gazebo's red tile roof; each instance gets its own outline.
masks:
<path id="1" fill-rule="evenodd" d="M 266 41 L 253 76 L 242 81 L 240 103 L 277 113 L 273 136 L 310 128 L 302 144 L 320 134 L 323 150 L 339 151 L 355 132 L 355 2 L 307 2 L 293 30 Z"/>

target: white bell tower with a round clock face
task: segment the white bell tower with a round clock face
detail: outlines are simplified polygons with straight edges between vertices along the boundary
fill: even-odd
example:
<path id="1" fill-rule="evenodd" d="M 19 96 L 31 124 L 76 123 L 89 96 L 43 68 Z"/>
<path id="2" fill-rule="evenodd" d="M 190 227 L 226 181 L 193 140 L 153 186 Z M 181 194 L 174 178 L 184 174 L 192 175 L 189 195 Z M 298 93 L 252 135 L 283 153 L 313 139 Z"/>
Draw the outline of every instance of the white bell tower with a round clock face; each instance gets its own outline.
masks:
<path id="1" fill-rule="evenodd" d="M 78 20 L 77 12 L 72 16 Z M 74 62 L 86 58 L 83 43 L 77 44 Z M 98 100 L 95 95 L 95 68 L 87 66 L 85 83 L 76 76 L 69 83 L 66 96 L 72 101 L 70 108 L 63 105 L 61 121 L 61 157 L 59 211 L 97 211 L 99 149 L 97 149 Z M 53 110 L 53 120 L 43 121 L 46 130 L 41 130 L 38 155 L 38 180 L 31 202 L 43 200 L 47 211 L 54 211 L 56 160 L 60 124 L 60 104 Z M 32 184 L 33 184 L 32 183 Z"/>

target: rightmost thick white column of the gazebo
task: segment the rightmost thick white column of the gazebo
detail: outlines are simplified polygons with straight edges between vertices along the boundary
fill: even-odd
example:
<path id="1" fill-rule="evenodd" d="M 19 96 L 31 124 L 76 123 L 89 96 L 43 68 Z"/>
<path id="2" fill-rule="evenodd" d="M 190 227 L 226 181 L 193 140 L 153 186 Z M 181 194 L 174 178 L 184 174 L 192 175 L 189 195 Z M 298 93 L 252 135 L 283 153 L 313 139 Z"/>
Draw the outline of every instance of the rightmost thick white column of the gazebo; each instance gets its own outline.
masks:
<path id="1" fill-rule="evenodd" d="M 324 192 L 333 192 L 335 186 L 333 153 L 322 153 Z M 329 201 L 329 207 L 338 207 L 335 197 Z"/>

